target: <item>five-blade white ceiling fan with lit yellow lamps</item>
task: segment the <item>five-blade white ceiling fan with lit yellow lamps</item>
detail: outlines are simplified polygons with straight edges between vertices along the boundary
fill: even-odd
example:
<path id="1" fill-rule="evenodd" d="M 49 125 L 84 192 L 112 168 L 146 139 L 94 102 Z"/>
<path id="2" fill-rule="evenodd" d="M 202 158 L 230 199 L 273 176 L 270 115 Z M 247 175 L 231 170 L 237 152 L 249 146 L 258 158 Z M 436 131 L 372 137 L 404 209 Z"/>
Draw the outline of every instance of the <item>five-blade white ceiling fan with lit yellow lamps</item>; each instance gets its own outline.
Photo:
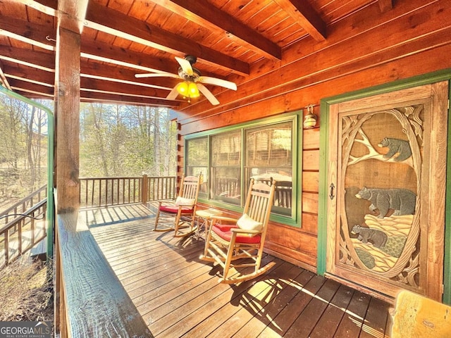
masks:
<path id="1" fill-rule="evenodd" d="M 135 74 L 135 77 L 174 77 L 176 79 L 183 80 L 183 82 L 180 82 L 173 87 L 168 96 L 166 96 L 166 99 L 175 100 L 178 94 L 181 94 L 183 97 L 188 99 L 188 102 L 190 102 L 191 98 L 198 97 L 199 92 L 201 92 L 204 94 L 206 99 L 208 99 L 210 103 L 215 106 L 219 104 L 219 101 L 209 91 L 209 89 L 204 86 L 204 84 L 214 84 L 215 86 L 237 90 L 237 85 L 234 82 L 221 80 L 216 77 L 202 76 L 200 71 L 192 66 L 197 61 L 195 56 L 187 55 L 185 58 L 175 56 L 175 60 L 177 60 L 180 64 L 178 74 L 161 72 Z"/>

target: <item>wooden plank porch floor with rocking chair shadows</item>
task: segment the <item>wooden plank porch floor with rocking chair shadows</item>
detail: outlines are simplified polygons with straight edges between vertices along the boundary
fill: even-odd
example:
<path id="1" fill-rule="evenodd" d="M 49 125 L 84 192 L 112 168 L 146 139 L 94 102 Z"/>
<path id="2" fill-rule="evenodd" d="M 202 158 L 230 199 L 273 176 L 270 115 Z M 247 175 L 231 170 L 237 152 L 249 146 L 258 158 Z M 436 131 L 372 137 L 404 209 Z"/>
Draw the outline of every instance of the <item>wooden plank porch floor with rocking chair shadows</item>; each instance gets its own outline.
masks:
<path id="1" fill-rule="evenodd" d="M 144 206 L 80 213 L 154 337 L 390 337 L 388 303 L 291 263 L 218 284 L 204 241 L 153 232 Z"/>

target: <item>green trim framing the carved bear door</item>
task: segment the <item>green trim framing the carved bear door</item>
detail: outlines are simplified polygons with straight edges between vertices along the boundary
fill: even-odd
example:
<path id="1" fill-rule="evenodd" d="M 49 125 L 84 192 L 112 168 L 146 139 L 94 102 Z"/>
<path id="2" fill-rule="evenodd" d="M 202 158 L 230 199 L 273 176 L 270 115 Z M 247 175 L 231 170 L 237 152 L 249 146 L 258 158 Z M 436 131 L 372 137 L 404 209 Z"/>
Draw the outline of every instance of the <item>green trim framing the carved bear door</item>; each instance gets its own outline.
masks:
<path id="1" fill-rule="evenodd" d="M 319 206 L 318 206 L 318 251 L 316 261 L 316 273 L 326 273 L 326 249 L 327 249 L 327 199 L 328 199 L 328 134 L 329 134 L 329 109 L 333 104 L 362 99 L 367 96 L 394 92 L 431 84 L 434 82 L 448 81 L 448 128 L 447 128 L 447 174 L 446 174 L 446 201 L 445 201 L 445 261 L 443 271 L 443 303 L 451 304 L 451 110 L 449 100 L 451 97 L 451 68 L 439 70 L 434 73 L 398 80 L 388 84 L 379 85 L 355 92 L 340 94 L 321 99 L 321 118 L 319 125 Z"/>

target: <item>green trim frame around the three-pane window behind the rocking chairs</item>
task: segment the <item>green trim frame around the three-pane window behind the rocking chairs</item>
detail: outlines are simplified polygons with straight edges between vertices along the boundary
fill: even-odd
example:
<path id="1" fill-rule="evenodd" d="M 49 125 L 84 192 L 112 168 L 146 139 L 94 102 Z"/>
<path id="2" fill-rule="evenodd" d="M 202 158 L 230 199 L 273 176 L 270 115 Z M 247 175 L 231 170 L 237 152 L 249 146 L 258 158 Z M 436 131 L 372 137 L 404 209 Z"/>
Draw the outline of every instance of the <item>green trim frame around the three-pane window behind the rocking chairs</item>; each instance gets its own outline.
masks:
<path id="1" fill-rule="evenodd" d="M 197 132 L 194 134 L 185 135 L 185 156 L 184 156 L 184 168 L 187 175 L 206 175 L 206 180 L 209 182 L 209 187 L 202 187 L 201 192 L 199 192 L 199 202 L 208 204 L 209 206 L 216 206 L 225 208 L 229 211 L 242 213 L 243 210 L 243 197 L 240 198 L 237 204 L 228 203 L 232 201 L 231 199 L 223 199 L 223 201 L 214 199 L 211 194 L 212 183 L 211 183 L 211 170 L 213 167 L 213 159 L 211 156 L 211 138 L 217 137 L 221 134 L 226 134 L 230 132 L 240 131 L 241 134 L 241 149 L 240 149 L 240 189 L 241 195 L 245 195 L 247 192 L 247 187 L 245 180 L 247 177 L 246 170 L 249 169 L 249 165 L 246 166 L 246 132 L 249 130 L 259 128 L 264 129 L 264 127 L 270 127 L 271 125 L 277 125 L 282 123 L 292 123 L 292 134 L 291 134 L 291 175 L 292 175 L 292 204 L 290 208 L 290 215 L 283 215 L 281 213 L 274 213 L 274 211 L 279 208 L 282 211 L 282 207 L 273 207 L 273 213 L 271 213 L 271 221 L 276 223 L 281 223 L 284 225 L 291 225 L 293 227 L 302 226 L 302 110 L 293 111 L 290 113 L 283 113 L 269 118 L 261 118 L 259 120 L 252 120 L 246 123 L 239 123 L 237 125 L 230 125 L 227 127 L 220 127 L 214 130 L 207 130 L 204 132 Z M 206 139 L 206 152 L 208 154 L 208 163 L 205 165 L 204 161 L 201 161 L 198 165 L 195 161 L 190 158 L 190 142 L 197 142 L 198 144 L 205 144 Z M 195 151 L 191 151 L 191 156 L 196 154 Z M 202 156 L 200 156 L 202 157 Z M 273 165 L 276 167 L 276 165 Z M 257 167 L 264 168 L 264 167 Z M 250 175 L 250 174 L 249 174 Z"/>

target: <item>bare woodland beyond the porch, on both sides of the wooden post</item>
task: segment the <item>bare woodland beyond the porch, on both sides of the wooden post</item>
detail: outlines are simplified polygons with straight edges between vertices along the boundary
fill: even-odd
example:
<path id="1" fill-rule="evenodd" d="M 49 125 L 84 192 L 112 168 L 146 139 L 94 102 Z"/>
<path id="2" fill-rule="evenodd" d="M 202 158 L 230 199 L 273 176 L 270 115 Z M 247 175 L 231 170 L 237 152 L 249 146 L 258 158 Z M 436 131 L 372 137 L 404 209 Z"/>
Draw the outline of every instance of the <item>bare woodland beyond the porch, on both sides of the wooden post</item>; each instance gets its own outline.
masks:
<path id="1" fill-rule="evenodd" d="M 175 175 L 176 133 L 167 108 L 80 104 L 80 177 Z M 47 181 L 47 114 L 0 95 L 0 135 L 1 211 Z"/>

